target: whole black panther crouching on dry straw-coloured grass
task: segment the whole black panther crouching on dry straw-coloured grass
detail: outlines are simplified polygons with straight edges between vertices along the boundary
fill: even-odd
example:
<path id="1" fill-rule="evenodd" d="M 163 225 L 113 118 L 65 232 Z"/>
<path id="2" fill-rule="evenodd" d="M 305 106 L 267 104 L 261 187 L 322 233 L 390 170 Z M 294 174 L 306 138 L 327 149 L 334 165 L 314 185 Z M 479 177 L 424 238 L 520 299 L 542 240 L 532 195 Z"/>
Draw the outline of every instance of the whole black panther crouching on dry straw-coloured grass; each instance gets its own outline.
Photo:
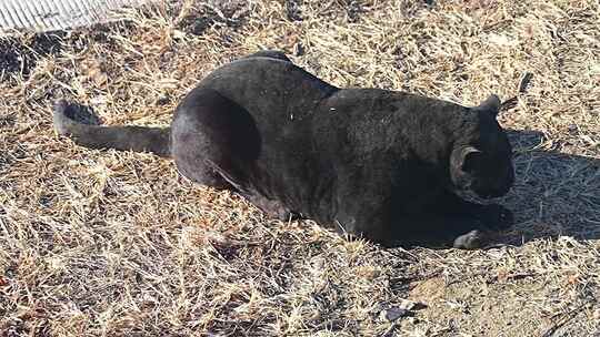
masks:
<path id="1" fill-rule="evenodd" d="M 278 218 L 299 214 L 387 245 L 440 238 L 473 248 L 481 233 L 512 223 L 502 206 L 456 194 L 493 197 L 511 187 L 499 108 L 494 95 L 466 108 L 339 89 L 262 51 L 210 73 L 170 130 L 81 124 L 64 102 L 54 124 L 86 146 L 170 154 L 187 177 L 233 190 Z"/>

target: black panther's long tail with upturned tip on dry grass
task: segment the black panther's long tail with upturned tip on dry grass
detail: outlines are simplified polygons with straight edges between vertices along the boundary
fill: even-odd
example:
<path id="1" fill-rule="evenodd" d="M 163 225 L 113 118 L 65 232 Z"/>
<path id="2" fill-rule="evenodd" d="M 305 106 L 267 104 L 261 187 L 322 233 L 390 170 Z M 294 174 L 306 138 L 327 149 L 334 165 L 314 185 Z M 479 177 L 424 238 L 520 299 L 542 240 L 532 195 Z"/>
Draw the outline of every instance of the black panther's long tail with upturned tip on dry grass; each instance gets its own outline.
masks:
<path id="1" fill-rule="evenodd" d="M 93 125 L 77 121 L 77 110 L 59 100 L 54 103 L 52 120 L 59 134 L 70 136 L 79 145 L 171 155 L 170 127 Z"/>

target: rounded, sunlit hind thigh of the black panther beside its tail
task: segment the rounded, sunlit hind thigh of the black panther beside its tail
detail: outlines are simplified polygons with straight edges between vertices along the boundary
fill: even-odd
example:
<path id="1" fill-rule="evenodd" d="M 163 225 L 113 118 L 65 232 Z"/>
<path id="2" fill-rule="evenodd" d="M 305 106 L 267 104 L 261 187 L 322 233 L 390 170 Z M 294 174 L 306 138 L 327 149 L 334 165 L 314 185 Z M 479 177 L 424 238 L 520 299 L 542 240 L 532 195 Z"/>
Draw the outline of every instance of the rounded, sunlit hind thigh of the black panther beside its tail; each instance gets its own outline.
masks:
<path id="1" fill-rule="evenodd" d="M 186 177 L 237 191 L 247 185 L 259 150 L 260 137 L 252 116 L 219 92 L 197 88 L 177 108 L 171 152 Z"/>

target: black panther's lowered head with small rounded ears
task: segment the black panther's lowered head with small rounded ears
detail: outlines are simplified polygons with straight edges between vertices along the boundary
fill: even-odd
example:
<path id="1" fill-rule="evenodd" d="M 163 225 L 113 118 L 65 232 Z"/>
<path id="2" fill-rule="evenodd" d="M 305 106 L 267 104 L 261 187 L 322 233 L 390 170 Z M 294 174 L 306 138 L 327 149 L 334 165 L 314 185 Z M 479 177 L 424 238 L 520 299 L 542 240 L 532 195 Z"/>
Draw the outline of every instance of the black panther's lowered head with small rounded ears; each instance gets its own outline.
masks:
<path id="1" fill-rule="evenodd" d="M 500 100 L 490 95 L 470 110 L 477 122 L 453 146 L 450 156 L 452 184 L 484 198 L 502 196 L 514 182 L 514 168 L 512 147 L 496 120 Z"/>

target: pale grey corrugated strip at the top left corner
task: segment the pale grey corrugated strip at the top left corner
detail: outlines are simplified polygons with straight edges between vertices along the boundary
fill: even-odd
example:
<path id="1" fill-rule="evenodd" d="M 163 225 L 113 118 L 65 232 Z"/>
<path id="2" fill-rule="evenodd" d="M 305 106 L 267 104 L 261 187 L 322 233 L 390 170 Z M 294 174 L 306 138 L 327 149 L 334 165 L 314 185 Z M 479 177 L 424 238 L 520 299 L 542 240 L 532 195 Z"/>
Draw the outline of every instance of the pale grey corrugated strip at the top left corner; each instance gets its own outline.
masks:
<path id="1" fill-rule="evenodd" d="M 151 0 L 0 0 L 0 33 L 48 32 L 119 20 L 114 11 Z"/>

